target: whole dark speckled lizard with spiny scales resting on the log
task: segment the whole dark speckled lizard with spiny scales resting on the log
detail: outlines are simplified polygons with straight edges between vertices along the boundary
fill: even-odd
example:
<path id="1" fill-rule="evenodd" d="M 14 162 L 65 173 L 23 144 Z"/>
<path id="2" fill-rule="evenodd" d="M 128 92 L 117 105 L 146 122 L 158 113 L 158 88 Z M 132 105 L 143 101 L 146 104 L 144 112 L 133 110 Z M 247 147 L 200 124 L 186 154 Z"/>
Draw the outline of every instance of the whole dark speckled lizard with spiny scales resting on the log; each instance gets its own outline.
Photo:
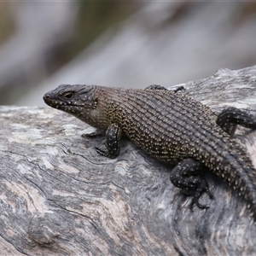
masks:
<path id="1" fill-rule="evenodd" d="M 217 114 L 183 93 L 157 84 L 146 89 L 124 89 L 87 84 L 61 84 L 44 95 L 52 108 L 70 113 L 105 132 L 103 156 L 119 155 L 125 135 L 155 159 L 175 165 L 171 182 L 191 205 L 207 208 L 203 193 L 214 198 L 203 174 L 210 170 L 237 191 L 256 220 L 256 171 L 246 151 L 233 135 L 236 125 L 256 128 L 252 115 L 238 108 Z"/>

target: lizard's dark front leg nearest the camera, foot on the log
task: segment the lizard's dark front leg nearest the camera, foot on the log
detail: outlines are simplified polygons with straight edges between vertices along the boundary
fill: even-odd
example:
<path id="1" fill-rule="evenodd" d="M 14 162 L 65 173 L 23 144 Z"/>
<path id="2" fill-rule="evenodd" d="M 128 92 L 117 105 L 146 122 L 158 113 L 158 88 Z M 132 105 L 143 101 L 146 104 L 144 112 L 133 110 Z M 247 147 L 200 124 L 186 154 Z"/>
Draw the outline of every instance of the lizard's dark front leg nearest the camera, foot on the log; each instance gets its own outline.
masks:
<path id="1" fill-rule="evenodd" d="M 106 131 L 105 148 L 97 148 L 96 151 L 99 154 L 107 156 L 109 158 L 115 158 L 119 155 L 119 141 L 121 137 L 121 128 L 118 124 L 111 124 Z"/>

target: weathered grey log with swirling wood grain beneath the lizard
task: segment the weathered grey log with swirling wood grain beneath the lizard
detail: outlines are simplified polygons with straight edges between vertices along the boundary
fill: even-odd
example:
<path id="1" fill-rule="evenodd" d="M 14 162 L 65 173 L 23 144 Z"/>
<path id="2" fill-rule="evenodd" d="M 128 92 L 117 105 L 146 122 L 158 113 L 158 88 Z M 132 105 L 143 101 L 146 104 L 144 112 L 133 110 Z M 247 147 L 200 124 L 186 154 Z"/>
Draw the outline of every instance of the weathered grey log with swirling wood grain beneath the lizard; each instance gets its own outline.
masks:
<path id="1" fill-rule="evenodd" d="M 216 111 L 232 105 L 256 117 L 256 66 L 183 86 Z M 0 120 L 1 255 L 256 255 L 245 204 L 211 173 L 216 199 L 205 195 L 209 209 L 191 211 L 170 183 L 172 166 L 127 139 L 110 160 L 95 151 L 103 137 L 81 137 L 92 128 L 67 113 L 1 107 Z M 256 131 L 236 139 L 256 166 Z"/>

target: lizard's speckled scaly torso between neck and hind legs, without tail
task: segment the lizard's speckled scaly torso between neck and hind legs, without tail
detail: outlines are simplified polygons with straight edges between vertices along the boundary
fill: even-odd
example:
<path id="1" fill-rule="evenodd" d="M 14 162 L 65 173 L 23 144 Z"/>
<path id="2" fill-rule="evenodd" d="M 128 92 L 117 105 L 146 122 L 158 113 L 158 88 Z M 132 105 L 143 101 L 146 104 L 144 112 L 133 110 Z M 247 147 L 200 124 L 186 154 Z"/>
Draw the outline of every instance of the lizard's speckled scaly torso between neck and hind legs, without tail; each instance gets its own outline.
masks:
<path id="1" fill-rule="evenodd" d="M 127 93 L 125 93 L 127 91 Z M 168 90 L 117 90 L 109 100 L 111 122 L 131 141 L 159 160 L 177 163 L 186 157 L 206 160 L 236 141 L 216 124 L 210 108 Z M 111 114 L 113 113 L 113 114 Z M 219 155 L 220 156 L 220 155 Z"/>

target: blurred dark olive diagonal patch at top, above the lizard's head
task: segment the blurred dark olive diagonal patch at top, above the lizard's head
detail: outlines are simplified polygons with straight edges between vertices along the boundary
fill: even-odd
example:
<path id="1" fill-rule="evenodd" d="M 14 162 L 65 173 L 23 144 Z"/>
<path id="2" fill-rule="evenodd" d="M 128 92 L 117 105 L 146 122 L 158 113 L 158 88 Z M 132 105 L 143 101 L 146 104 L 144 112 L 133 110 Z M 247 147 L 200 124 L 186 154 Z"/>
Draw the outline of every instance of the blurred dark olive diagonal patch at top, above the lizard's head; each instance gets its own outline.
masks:
<path id="1" fill-rule="evenodd" d="M 49 73 L 73 59 L 86 46 L 93 42 L 108 27 L 118 26 L 132 12 L 138 9 L 140 4 L 134 2 L 116 1 L 85 1 L 79 2 L 79 18 L 73 31 L 72 39 L 67 44 L 58 46 L 53 52 Z"/>

